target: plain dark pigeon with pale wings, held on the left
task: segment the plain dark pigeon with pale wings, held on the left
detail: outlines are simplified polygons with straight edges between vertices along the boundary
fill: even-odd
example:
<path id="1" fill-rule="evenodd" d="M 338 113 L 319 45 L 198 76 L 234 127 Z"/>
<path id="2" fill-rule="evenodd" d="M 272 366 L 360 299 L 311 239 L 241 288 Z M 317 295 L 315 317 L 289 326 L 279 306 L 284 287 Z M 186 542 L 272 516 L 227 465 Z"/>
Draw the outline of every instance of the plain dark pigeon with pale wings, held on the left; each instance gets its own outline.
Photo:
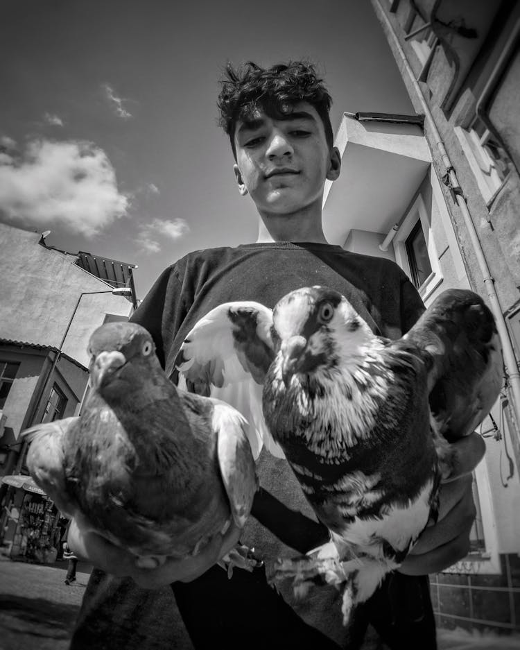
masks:
<path id="1" fill-rule="evenodd" d="M 24 433 L 36 484 L 141 568 L 198 554 L 232 522 L 243 528 L 258 486 L 243 416 L 177 390 L 140 325 L 102 325 L 88 353 L 80 416 Z"/>

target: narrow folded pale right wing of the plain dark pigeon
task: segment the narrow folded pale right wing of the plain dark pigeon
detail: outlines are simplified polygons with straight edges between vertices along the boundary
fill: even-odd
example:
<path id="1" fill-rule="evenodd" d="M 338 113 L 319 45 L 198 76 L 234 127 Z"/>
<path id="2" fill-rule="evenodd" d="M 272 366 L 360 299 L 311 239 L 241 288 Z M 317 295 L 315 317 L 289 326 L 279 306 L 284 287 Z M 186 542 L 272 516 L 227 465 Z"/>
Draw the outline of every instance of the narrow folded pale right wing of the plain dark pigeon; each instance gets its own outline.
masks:
<path id="1" fill-rule="evenodd" d="M 215 400 L 213 425 L 217 431 L 217 453 L 233 520 L 243 528 L 258 489 L 254 459 L 248 442 L 248 422 L 229 404 Z"/>

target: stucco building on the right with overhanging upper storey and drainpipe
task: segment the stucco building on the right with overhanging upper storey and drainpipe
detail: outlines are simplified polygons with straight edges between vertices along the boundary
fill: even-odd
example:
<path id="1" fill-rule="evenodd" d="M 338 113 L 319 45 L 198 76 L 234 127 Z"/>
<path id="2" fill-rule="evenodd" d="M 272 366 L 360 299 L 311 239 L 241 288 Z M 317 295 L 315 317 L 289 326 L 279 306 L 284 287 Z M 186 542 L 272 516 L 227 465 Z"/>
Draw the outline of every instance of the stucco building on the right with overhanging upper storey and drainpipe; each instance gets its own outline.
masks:
<path id="1" fill-rule="evenodd" d="M 505 387 L 480 434 L 471 552 L 431 576 L 444 630 L 520 630 L 520 4 L 372 0 L 416 114 L 343 115 L 331 243 L 395 259 L 428 305 L 471 288 L 494 311 Z M 352 107 L 356 108 L 356 107 Z M 363 107 L 364 108 L 364 107 Z"/>

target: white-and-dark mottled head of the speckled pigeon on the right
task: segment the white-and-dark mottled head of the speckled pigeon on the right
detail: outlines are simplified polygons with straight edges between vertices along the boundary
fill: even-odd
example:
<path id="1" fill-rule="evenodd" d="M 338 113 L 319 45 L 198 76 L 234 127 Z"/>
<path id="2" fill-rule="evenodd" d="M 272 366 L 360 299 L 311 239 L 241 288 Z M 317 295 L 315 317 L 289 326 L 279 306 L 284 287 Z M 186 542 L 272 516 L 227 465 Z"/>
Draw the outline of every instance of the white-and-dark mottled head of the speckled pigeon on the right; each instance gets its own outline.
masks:
<path id="1" fill-rule="evenodd" d="M 272 320 L 286 384 L 297 373 L 338 366 L 367 334 L 373 336 L 348 300 L 326 286 L 291 291 L 275 306 Z"/>

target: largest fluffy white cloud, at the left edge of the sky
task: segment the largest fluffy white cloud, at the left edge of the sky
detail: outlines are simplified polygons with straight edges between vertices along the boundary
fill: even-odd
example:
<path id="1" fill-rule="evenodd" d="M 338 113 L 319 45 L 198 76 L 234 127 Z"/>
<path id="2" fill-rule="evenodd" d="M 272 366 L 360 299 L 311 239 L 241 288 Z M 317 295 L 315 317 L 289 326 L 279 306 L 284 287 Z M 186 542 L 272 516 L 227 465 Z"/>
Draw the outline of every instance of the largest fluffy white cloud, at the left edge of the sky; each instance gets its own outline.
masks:
<path id="1" fill-rule="evenodd" d="M 127 210 L 110 160 L 92 142 L 38 139 L 0 159 L 0 212 L 11 221 L 92 237 Z"/>

